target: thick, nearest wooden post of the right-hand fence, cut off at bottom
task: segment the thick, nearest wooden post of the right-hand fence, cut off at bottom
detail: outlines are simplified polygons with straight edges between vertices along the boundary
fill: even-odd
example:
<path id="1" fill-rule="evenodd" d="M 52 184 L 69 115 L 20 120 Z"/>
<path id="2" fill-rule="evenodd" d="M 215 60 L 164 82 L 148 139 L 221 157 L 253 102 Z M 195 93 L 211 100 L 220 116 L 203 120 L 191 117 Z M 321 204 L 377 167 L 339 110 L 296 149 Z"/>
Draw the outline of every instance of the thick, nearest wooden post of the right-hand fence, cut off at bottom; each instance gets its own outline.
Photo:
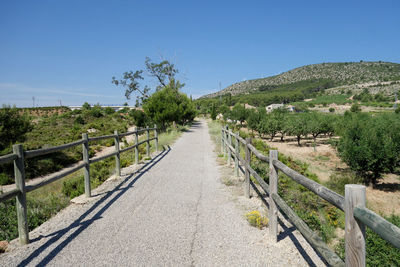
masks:
<path id="1" fill-rule="evenodd" d="M 354 218 L 354 207 L 365 207 L 365 186 L 347 184 L 344 194 L 346 266 L 365 266 L 365 225 Z"/>

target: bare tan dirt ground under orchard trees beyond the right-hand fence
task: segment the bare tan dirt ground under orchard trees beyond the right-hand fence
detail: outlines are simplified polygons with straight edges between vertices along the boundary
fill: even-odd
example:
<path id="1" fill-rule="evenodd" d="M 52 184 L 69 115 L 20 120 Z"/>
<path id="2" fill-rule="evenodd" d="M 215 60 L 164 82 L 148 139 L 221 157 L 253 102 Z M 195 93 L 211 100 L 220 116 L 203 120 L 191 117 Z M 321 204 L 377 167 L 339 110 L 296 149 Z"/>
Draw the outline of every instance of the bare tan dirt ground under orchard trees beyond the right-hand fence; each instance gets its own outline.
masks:
<path id="1" fill-rule="evenodd" d="M 270 147 L 277 148 L 280 153 L 309 164 L 309 170 L 317 174 L 323 183 L 329 181 L 332 174 L 348 170 L 336 150 L 326 143 L 327 139 L 324 137 L 317 139 L 315 152 L 312 139 L 302 140 L 301 147 L 293 137 L 286 137 L 284 142 L 280 141 L 280 137 L 272 142 L 264 140 Z M 376 188 L 367 187 L 367 206 L 379 214 L 400 215 L 400 177 L 387 174 L 378 182 Z"/>

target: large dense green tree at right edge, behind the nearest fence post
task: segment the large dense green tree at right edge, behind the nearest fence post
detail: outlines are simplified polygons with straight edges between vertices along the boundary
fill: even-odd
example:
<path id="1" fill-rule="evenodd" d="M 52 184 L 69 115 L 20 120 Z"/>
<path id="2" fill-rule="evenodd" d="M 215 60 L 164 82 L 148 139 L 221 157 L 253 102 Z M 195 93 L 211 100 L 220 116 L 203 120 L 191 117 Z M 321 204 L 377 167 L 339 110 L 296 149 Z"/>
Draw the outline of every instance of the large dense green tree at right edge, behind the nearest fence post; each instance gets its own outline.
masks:
<path id="1" fill-rule="evenodd" d="M 346 127 L 338 151 L 349 167 L 376 183 L 384 172 L 400 164 L 400 118 L 393 114 L 372 117 L 368 114 L 347 114 Z"/>

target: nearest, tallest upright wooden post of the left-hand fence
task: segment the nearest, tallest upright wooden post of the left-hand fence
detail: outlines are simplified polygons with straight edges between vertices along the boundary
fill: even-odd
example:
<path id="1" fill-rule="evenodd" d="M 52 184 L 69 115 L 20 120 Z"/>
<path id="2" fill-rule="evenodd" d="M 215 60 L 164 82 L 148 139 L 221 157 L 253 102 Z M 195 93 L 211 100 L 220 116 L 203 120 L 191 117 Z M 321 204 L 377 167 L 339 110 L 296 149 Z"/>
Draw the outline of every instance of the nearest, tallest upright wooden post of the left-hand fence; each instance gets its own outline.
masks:
<path id="1" fill-rule="evenodd" d="M 19 193 L 16 197 L 19 242 L 22 245 L 26 245 L 29 243 L 29 229 L 25 191 L 24 148 L 21 144 L 13 145 L 13 152 L 18 157 L 14 160 L 14 175 L 15 185 L 19 190 Z"/>

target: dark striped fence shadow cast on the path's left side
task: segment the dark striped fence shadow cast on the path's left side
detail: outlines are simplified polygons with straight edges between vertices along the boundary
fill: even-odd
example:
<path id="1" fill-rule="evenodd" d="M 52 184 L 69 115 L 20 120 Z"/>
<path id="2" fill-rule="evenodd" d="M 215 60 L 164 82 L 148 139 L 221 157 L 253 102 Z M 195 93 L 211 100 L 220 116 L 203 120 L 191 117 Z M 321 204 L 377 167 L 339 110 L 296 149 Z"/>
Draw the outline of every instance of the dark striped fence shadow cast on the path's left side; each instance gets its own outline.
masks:
<path id="1" fill-rule="evenodd" d="M 26 266 L 28 265 L 32 260 L 34 260 L 36 257 L 38 257 L 40 254 L 42 254 L 48 247 L 50 247 L 52 244 L 57 242 L 59 239 L 63 238 L 67 233 L 74 228 L 75 231 L 69 236 L 63 240 L 60 244 L 58 244 L 54 249 L 52 249 L 38 264 L 37 266 L 44 266 L 47 265 L 48 263 L 51 262 L 51 260 L 61 252 L 75 237 L 77 237 L 80 233 L 82 233 L 88 226 L 90 226 L 94 221 L 98 220 L 101 218 L 101 215 L 115 202 L 117 201 L 124 193 L 126 193 L 132 186 L 133 184 L 138 181 L 143 174 L 148 172 L 151 168 L 153 168 L 159 161 L 161 161 L 169 152 L 171 151 L 171 148 L 168 146 L 166 150 L 163 150 L 161 153 L 159 153 L 156 157 L 151 159 L 149 162 L 146 162 L 142 167 L 140 167 L 138 170 L 136 170 L 134 173 L 131 173 L 129 176 L 127 176 L 121 183 L 119 183 L 113 190 L 108 191 L 105 193 L 105 195 L 97 200 L 92 207 L 90 207 L 85 213 L 83 213 L 78 219 L 76 219 L 73 223 L 71 223 L 68 227 L 56 231 L 54 233 L 51 233 L 47 236 L 44 237 L 50 237 L 53 236 L 51 239 L 49 239 L 46 243 L 41 245 L 39 248 L 37 248 L 34 252 L 32 252 L 27 258 L 22 260 L 18 266 Z M 133 178 L 133 179 L 132 179 Z M 122 188 L 122 186 L 125 187 Z M 116 193 L 115 196 L 110 198 L 114 193 Z M 107 201 L 107 202 L 106 202 Z M 106 203 L 104 207 L 102 207 L 98 212 L 96 212 L 91 218 L 87 218 L 92 211 L 94 211 L 99 205 L 102 203 Z M 87 219 L 87 220 L 85 220 Z M 85 221 L 84 221 L 85 220 Z M 32 239 L 31 243 L 38 242 L 42 237 Z"/>

